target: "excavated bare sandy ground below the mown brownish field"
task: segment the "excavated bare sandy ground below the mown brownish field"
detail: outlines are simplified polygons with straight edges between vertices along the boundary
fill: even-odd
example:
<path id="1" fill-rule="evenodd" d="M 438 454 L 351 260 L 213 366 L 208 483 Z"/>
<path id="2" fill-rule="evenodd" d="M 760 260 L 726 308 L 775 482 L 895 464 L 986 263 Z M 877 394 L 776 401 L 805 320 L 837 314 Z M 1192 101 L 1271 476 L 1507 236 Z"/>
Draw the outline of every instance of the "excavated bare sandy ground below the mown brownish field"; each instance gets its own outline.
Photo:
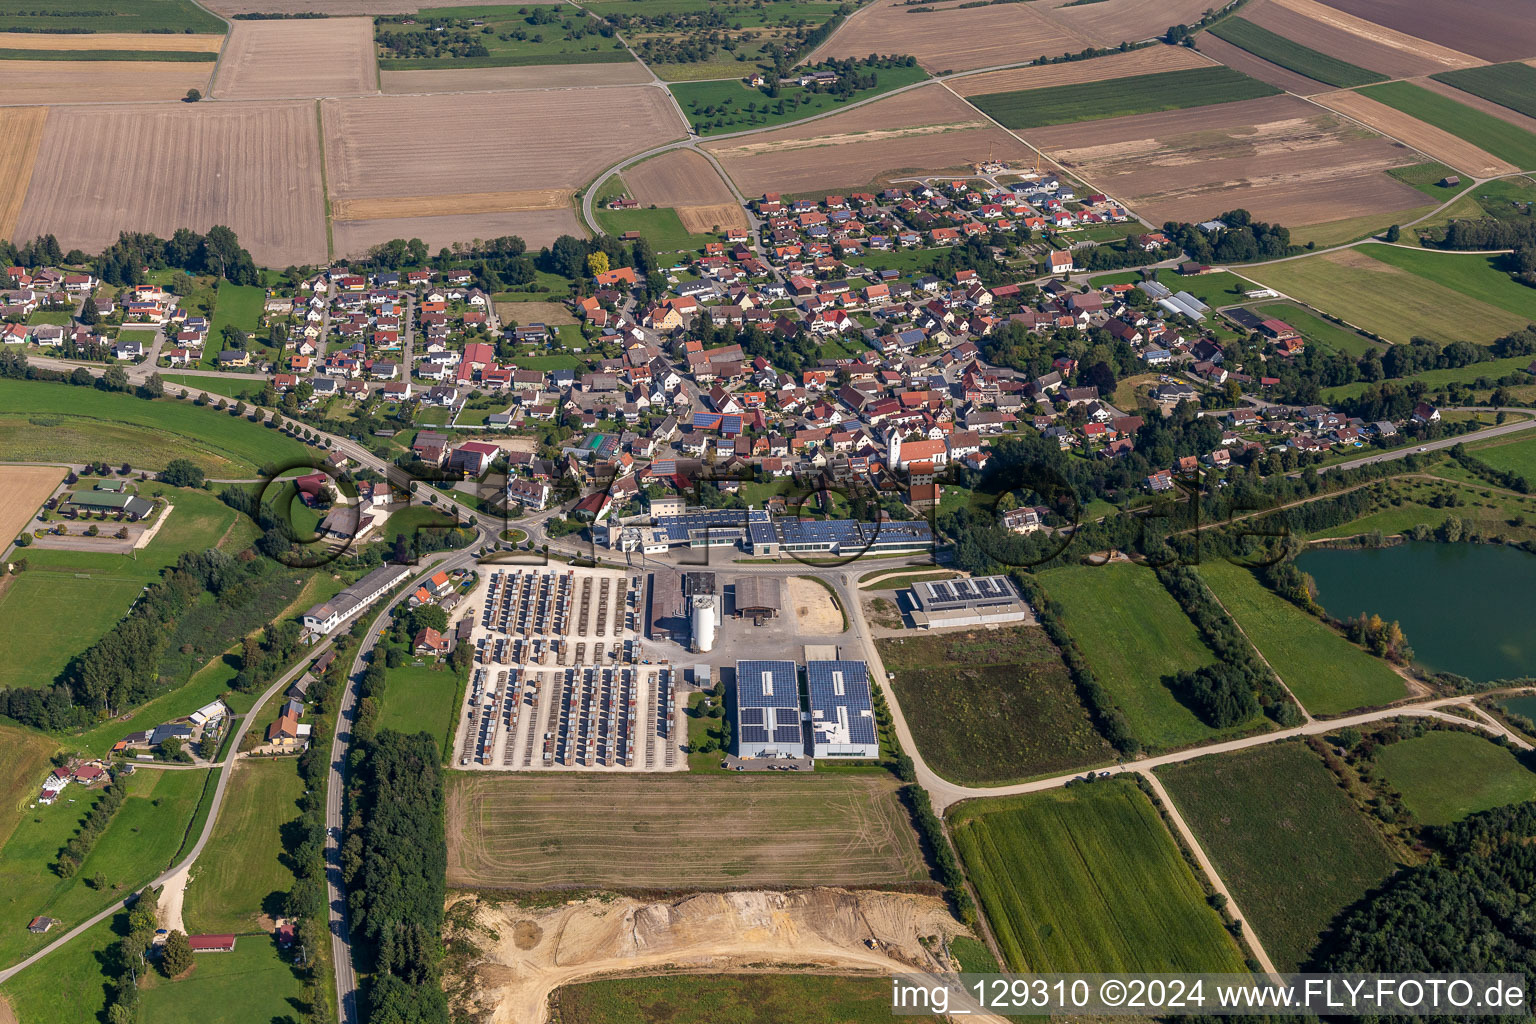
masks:
<path id="1" fill-rule="evenodd" d="M 482 955 L 473 966 L 470 1004 L 458 1009 L 492 1024 L 542 1024 L 551 992 L 598 976 L 774 964 L 876 975 L 954 970 L 919 940 L 966 933 L 934 897 L 846 889 L 702 894 L 659 903 L 591 898 L 550 909 L 478 903 L 473 920 L 482 930 Z"/>

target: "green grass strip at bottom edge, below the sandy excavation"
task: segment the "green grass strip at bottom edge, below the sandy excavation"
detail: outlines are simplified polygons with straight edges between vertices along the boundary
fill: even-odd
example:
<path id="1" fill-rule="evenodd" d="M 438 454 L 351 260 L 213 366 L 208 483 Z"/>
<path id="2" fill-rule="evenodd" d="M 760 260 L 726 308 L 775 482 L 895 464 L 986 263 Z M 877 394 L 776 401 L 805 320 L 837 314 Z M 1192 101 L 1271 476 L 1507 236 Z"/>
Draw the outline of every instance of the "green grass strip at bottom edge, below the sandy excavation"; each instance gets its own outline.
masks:
<path id="1" fill-rule="evenodd" d="M 556 1019 L 581 1024 L 886 1024 L 891 987 L 877 978 L 829 975 L 702 975 L 621 978 L 565 986 L 551 1003 Z M 813 1009 L 814 1007 L 814 1009 Z M 903 1021 L 938 1024 L 935 1016 Z"/>

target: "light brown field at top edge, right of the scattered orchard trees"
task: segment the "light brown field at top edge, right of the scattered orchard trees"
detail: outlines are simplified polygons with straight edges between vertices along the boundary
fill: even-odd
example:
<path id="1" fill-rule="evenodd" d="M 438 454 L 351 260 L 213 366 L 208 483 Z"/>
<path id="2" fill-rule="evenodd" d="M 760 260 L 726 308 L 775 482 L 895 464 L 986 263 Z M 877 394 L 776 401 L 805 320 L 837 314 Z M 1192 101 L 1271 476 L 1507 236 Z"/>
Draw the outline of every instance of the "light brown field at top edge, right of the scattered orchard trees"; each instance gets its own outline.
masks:
<path id="1" fill-rule="evenodd" d="M 914 12 L 900 0 L 876 0 L 849 15 L 811 60 L 911 54 L 932 72 L 969 71 L 1017 64 L 1041 54 L 1077 52 L 1089 45 L 1086 37 L 1051 21 L 1032 5 L 922 6 L 923 11 Z"/>

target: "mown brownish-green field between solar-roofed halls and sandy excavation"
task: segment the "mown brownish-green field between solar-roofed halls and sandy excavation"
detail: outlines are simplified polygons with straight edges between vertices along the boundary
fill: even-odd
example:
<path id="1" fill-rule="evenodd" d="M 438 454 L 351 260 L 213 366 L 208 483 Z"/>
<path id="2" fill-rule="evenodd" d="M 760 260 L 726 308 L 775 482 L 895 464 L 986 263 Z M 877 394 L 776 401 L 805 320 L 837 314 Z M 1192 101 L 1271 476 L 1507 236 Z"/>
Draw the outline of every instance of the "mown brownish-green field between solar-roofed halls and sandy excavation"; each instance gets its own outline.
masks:
<path id="1" fill-rule="evenodd" d="M 455 774 L 449 884 L 731 889 L 920 884 L 928 866 L 886 775 Z M 730 808 L 730 814 L 722 814 Z"/>

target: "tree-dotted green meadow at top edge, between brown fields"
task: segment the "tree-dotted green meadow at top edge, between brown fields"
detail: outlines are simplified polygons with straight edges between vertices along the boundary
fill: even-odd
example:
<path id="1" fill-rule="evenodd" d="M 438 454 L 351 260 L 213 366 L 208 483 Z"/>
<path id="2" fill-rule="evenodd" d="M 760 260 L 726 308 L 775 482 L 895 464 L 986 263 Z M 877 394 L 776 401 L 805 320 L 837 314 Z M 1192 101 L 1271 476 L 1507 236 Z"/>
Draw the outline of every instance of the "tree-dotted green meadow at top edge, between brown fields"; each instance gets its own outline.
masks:
<path id="1" fill-rule="evenodd" d="M 544 21 L 556 14 L 558 20 Z M 473 20 L 481 28 L 467 31 L 485 54 L 432 54 L 436 29 L 447 20 Z M 485 29 L 490 29 L 488 32 Z M 384 46 L 386 37 L 404 37 L 404 48 Z M 581 11 L 565 8 L 455 6 L 422 8 L 412 23 L 381 21 L 375 28 L 379 40 L 381 71 L 419 71 L 429 68 L 522 68 L 530 64 L 608 64 L 631 60 L 616 38 L 604 38 L 598 23 Z M 427 51 L 419 49 L 427 45 Z"/>

